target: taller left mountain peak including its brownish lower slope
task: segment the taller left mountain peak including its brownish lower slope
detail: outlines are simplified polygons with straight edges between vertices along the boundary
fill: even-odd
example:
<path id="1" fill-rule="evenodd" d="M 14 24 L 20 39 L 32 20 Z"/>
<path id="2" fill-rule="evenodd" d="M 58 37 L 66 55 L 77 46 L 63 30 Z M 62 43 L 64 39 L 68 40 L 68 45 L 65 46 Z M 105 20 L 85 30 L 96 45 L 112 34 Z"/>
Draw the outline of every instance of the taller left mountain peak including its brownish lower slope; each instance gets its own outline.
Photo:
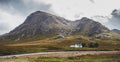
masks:
<path id="1" fill-rule="evenodd" d="M 36 11 L 30 14 L 25 22 L 16 27 L 10 33 L 3 36 L 3 40 L 19 41 L 22 39 L 43 38 L 56 32 L 66 32 L 70 27 L 69 21 L 42 11 Z"/>

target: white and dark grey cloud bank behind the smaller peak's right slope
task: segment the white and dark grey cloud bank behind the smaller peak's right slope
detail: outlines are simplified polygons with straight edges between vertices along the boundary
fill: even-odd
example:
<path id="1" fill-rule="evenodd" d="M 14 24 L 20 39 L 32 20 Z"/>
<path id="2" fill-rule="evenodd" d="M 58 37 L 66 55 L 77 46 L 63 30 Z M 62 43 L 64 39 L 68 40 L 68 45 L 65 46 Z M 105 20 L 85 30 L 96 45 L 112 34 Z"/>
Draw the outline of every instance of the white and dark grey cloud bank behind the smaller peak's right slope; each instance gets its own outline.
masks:
<path id="1" fill-rule="evenodd" d="M 111 14 L 107 16 L 93 16 L 92 19 L 95 21 L 99 21 L 110 29 L 120 29 L 120 9 L 114 9 Z"/>

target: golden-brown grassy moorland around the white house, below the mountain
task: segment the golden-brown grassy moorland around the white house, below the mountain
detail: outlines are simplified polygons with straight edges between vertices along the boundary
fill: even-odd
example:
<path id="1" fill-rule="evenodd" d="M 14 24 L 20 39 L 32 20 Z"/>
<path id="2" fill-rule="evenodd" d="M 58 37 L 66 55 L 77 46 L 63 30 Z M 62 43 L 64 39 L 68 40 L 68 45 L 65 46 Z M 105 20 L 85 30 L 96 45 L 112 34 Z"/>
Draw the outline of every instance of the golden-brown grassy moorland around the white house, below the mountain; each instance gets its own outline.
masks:
<path id="1" fill-rule="evenodd" d="M 76 43 L 97 42 L 97 48 L 70 48 Z M 120 42 L 115 40 L 99 40 L 81 35 L 69 36 L 66 38 L 55 39 L 54 37 L 38 41 L 11 42 L 0 44 L 0 55 L 22 54 L 41 51 L 62 51 L 62 50 L 120 50 Z"/>

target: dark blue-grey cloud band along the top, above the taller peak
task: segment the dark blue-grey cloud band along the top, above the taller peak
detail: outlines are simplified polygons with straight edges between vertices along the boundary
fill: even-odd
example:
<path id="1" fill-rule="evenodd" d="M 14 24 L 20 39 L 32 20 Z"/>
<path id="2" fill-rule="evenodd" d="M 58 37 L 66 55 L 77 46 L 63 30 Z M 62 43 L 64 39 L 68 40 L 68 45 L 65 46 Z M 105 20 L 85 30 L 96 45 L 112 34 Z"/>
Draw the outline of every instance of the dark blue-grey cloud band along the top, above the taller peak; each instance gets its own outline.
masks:
<path id="1" fill-rule="evenodd" d="M 36 3 L 34 0 L 0 0 L 0 7 L 12 14 L 28 15 L 31 12 L 41 10 L 49 11 L 50 4 Z"/>

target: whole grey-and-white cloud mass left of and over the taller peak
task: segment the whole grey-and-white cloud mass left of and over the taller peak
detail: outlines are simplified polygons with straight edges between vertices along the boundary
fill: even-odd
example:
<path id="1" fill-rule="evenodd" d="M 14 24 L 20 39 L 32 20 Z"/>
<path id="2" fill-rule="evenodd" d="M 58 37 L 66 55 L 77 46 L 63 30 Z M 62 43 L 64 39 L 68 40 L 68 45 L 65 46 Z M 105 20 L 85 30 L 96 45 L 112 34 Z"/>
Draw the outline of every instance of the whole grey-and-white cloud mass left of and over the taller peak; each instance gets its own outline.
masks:
<path id="1" fill-rule="evenodd" d="M 50 12 L 51 4 L 35 0 L 0 0 L 0 34 L 7 33 L 24 22 L 32 12 Z"/>

